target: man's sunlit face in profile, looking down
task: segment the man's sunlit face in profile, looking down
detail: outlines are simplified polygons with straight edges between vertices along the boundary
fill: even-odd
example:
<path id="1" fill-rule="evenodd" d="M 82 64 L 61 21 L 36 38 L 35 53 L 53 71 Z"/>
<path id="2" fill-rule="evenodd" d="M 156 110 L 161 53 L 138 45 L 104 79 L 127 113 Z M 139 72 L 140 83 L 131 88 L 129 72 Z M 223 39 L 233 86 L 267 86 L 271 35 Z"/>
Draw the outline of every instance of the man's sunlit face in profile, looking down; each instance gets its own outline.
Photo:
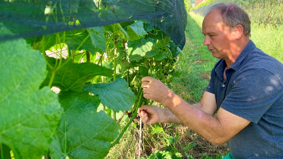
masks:
<path id="1" fill-rule="evenodd" d="M 203 45 L 207 45 L 212 55 L 218 59 L 227 59 L 233 51 L 233 31 L 223 22 L 219 10 L 212 10 L 203 20 Z"/>

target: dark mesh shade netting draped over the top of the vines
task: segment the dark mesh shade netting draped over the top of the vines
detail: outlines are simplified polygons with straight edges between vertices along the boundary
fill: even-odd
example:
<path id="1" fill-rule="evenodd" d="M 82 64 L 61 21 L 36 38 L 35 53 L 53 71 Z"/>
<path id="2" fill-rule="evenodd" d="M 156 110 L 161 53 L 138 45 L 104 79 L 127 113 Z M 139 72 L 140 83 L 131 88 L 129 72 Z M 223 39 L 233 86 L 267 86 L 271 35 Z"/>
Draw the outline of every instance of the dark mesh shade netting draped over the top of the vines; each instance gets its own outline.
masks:
<path id="1" fill-rule="evenodd" d="M 0 0 L 0 41 L 133 20 L 147 20 L 181 49 L 185 45 L 182 0 Z"/>

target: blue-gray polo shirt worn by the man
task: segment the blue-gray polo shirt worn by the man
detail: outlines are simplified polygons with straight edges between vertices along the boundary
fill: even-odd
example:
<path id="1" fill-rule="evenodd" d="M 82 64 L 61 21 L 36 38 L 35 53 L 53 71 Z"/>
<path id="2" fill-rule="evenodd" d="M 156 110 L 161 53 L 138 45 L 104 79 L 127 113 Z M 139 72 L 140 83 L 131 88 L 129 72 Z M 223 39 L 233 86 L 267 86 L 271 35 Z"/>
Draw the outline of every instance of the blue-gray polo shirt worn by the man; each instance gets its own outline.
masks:
<path id="1" fill-rule="evenodd" d="M 283 158 L 283 64 L 250 40 L 236 61 L 223 71 L 219 60 L 205 91 L 221 107 L 251 123 L 227 144 L 237 159 Z M 231 123 L 233 124 L 233 123 Z"/>

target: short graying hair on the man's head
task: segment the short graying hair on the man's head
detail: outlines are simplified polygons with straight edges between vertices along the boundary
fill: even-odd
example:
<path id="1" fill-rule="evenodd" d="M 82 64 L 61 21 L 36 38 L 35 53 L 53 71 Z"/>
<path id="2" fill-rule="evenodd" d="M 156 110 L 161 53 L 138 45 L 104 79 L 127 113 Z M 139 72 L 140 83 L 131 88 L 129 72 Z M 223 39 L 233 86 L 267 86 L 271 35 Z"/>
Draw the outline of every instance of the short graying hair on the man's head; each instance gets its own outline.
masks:
<path id="1" fill-rule="evenodd" d="M 208 9 L 208 13 L 217 9 L 221 12 L 224 23 L 235 29 L 238 24 L 243 26 L 243 32 L 246 38 L 251 36 L 251 21 L 248 14 L 241 7 L 232 3 L 218 3 Z"/>

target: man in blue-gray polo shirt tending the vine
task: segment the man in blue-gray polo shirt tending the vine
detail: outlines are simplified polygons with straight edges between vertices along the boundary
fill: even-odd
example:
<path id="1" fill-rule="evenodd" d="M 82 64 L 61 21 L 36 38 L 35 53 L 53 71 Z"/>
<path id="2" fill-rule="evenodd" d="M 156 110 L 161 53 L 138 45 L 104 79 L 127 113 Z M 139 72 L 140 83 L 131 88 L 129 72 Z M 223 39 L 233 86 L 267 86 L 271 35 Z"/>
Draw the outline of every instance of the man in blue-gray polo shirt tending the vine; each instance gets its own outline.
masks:
<path id="1" fill-rule="evenodd" d="M 231 153 L 225 159 L 282 159 L 283 64 L 256 48 L 250 31 L 242 8 L 212 6 L 203 20 L 203 44 L 220 60 L 203 98 L 188 104 L 157 79 L 144 77 L 144 97 L 168 109 L 141 106 L 142 121 L 182 123 L 215 145 L 227 142 Z"/>

